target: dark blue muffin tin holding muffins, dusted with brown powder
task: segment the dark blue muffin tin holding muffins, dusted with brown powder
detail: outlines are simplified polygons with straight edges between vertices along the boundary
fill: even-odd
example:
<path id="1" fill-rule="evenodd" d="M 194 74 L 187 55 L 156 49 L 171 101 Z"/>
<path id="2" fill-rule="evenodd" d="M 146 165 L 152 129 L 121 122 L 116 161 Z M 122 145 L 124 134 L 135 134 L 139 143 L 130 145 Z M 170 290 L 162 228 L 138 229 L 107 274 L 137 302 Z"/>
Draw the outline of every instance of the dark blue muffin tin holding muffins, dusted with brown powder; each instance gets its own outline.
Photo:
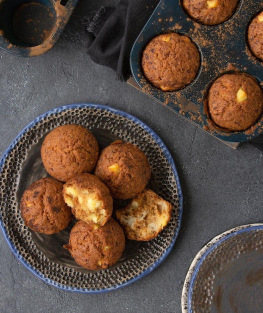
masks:
<path id="1" fill-rule="evenodd" d="M 229 20 L 208 26 L 192 20 L 179 0 L 161 0 L 132 46 L 130 68 L 133 78 L 144 93 L 219 139 L 241 142 L 256 137 L 263 132 L 263 116 L 246 130 L 224 131 L 209 119 L 204 100 L 211 82 L 226 72 L 246 72 L 262 85 L 262 64 L 251 55 L 246 42 L 249 22 L 262 9 L 260 0 L 240 0 Z M 169 31 L 188 36 L 199 49 L 201 58 L 194 81 L 185 88 L 172 92 L 152 86 L 141 69 L 141 54 L 145 45 L 156 35 Z"/>

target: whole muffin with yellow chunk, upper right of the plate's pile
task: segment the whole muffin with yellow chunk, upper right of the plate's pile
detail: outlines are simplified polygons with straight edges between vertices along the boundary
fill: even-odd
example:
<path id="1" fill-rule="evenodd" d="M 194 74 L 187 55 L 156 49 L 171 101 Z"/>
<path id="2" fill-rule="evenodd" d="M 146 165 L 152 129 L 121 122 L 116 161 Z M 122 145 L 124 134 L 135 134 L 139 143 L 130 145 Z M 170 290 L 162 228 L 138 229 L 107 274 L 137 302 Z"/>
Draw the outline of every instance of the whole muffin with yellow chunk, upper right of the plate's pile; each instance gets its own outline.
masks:
<path id="1" fill-rule="evenodd" d="M 106 146 L 94 174 L 109 188 L 113 198 L 128 199 L 141 192 L 150 178 L 146 155 L 134 144 L 120 140 Z"/>

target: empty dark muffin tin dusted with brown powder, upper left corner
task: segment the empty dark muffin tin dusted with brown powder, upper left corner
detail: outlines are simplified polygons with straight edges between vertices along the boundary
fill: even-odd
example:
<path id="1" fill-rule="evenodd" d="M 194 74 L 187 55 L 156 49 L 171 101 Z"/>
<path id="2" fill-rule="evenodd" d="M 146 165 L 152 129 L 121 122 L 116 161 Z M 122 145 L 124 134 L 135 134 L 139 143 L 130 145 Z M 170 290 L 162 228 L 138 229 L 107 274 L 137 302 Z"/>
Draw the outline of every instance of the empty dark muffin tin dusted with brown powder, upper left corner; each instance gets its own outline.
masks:
<path id="1" fill-rule="evenodd" d="M 0 0 L 0 48 L 24 57 L 48 51 L 78 0 Z"/>

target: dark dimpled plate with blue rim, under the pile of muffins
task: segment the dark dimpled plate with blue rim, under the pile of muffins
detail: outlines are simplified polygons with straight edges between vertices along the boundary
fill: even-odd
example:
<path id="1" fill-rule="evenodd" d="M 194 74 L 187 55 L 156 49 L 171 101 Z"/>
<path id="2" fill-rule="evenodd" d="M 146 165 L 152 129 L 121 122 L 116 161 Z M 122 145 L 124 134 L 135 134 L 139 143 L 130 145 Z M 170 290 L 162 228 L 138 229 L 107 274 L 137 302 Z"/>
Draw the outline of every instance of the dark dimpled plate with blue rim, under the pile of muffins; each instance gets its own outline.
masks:
<path id="1" fill-rule="evenodd" d="M 73 222 L 57 234 L 36 233 L 25 226 L 19 210 L 24 189 L 48 176 L 40 157 L 45 135 L 59 125 L 73 123 L 88 128 L 100 150 L 116 139 L 131 142 L 143 150 L 152 168 L 148 187 L 173 205 L 171 220 L 156 238 L 148 242 L 127 240 L 119 261 L 99 271 L 79 266 L 63 248 L 63 244 L 68 243 Z M 0 226 L 9 247 L 31 272 L 60 289 L 99 293 L 136 281 L 164 260 L 180 228 L 182 194 L 175 164 L 166 146 L 142 121 L 105 105 L 69 104 L 35 118 L 3 154 L 0 188 Z"/>

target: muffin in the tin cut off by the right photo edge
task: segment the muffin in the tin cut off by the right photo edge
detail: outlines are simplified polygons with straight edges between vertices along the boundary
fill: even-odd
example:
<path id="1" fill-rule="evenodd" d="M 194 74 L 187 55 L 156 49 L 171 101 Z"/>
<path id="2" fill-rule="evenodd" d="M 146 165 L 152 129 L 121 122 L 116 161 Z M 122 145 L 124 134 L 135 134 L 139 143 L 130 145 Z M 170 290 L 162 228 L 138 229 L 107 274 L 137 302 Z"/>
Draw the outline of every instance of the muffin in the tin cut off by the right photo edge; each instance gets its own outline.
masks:
<path id="1" fill-rule="evenodd" d="M 249 23 L 247 43 L 252 54 L 263 61 L 263 11 L 257 14 Z"/>

